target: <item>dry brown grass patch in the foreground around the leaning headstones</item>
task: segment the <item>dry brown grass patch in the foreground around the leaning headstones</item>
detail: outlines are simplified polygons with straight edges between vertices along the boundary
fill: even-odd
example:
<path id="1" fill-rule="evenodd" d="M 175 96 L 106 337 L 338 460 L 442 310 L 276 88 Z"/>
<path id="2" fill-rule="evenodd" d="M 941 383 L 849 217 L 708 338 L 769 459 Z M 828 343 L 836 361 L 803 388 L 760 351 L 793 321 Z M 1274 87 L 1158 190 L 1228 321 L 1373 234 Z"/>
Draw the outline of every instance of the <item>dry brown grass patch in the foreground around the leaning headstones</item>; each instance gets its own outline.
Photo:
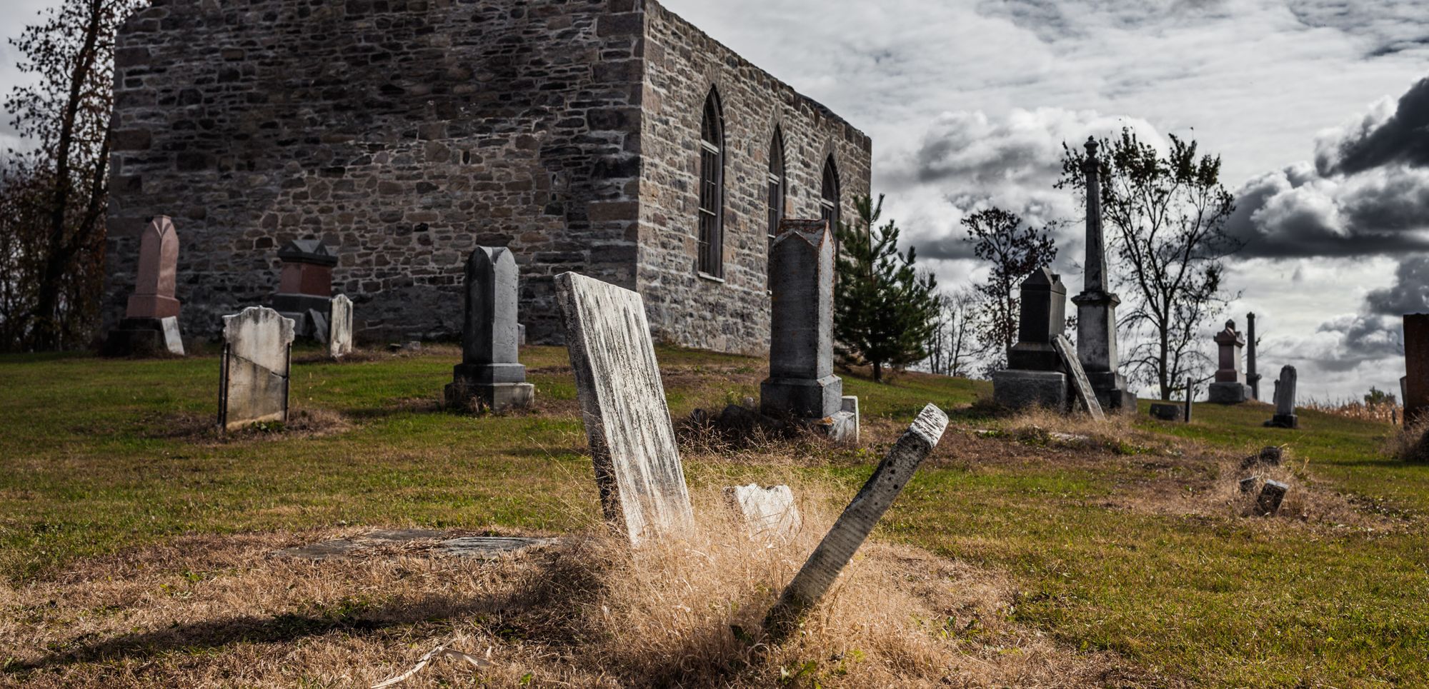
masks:
<path id="1" fill-rule="evenodd" d="M 847 496 L 795 486 L 805 527 L 752 540 L 719 490 L 700 527 L 632 552 L 602 530 L 476 562 L 400 549 L 337 562 L 277 547 L 352 535 L 183 537 L 0 588 L 0 683 L 367 686 L 449 642 L 400 686 L 1132 686 L 1109 655 L 1010 622 L 1010 583 L 926 552 L 866 545 L 782 648 L 760 620 Z"/>

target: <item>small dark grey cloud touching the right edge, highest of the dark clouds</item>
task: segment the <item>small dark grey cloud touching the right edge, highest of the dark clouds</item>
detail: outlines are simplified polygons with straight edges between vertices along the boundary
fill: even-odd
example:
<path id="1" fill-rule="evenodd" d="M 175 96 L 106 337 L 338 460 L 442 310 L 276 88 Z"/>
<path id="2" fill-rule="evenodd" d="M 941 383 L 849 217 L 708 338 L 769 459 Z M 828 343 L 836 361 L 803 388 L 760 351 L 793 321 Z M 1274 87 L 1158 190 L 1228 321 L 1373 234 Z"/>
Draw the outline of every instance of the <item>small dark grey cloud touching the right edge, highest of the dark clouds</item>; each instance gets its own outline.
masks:
<path id="1" fill-rule="evenodd" d="M 1392 163 L 1429 166 L 1429 79 L 1400 96 L 1393 114 L 1380 117 L 1370 113 L 1323 139 L 1315 157 L 1319 173 L 1355 174 Z"/>

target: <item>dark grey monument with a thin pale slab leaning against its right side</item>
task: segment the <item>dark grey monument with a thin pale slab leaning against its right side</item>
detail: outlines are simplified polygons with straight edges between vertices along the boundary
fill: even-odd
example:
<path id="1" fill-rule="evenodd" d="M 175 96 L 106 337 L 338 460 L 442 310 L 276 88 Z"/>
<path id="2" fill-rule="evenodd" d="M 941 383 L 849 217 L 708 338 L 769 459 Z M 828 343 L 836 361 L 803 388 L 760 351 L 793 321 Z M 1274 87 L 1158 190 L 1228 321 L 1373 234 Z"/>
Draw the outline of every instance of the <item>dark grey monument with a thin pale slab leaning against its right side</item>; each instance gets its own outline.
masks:
<path id="1" fill-rule="evenodd" d="M 1022 282 L 1017 343 L 1007 349 L 1007 369 L 992 375 L 992 397 L 1009 409 L 1072 406 L 1067 376 L 1052 339 L 1066 332 L 1067 289 L 1046 267 Z"/>

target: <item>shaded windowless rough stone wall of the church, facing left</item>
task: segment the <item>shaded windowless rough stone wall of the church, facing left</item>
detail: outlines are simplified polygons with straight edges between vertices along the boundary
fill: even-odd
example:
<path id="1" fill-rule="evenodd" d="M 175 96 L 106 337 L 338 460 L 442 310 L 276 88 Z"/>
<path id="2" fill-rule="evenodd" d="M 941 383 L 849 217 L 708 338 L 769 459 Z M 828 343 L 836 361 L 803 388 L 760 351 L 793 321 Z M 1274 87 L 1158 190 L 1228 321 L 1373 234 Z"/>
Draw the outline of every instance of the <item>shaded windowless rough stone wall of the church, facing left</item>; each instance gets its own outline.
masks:
<path id="1" fill-rule="evenodd" d="M 556 273 L 636 284 L 643 23 L 634 0 L 154 0 L 117 41 L 106 320 L 170 214 L 189 336 L 323 239 L 359 337 L 460 333 L 490 244 L 549 339 Z"/>

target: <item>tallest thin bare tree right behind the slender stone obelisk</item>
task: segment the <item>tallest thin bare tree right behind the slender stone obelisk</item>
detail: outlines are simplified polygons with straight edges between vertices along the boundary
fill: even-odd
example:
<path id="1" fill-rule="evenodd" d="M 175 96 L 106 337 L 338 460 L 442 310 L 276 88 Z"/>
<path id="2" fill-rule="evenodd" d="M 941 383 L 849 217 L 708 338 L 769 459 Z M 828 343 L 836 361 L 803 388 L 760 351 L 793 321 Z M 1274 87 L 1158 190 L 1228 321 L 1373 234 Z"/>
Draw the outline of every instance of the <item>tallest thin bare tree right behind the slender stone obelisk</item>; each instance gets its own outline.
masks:
<path id="1" fill-rule="evenodd" d="M 1102 140 L 1102 209 L 1117 232 L 1112 250 L 1120 259 L 1112 279 L 1122 297 L 1120 326 L 1137 337 L 1123 359 L 1139 382 L 1170 399 L 1182 380 L 1210 365 L 1202 326 L 1233 294 L 1222 284 L 1223 260 L 1243 246 L 1225 232 L 1235 197 L 1220 184 L 1220 157 L 1199 156 L 1195 140 L 1170 136 L 1162 156 L 1123 127 Z M 1062 180 L 1086 194 L 1086 154 L 1062 144 Z"/>

